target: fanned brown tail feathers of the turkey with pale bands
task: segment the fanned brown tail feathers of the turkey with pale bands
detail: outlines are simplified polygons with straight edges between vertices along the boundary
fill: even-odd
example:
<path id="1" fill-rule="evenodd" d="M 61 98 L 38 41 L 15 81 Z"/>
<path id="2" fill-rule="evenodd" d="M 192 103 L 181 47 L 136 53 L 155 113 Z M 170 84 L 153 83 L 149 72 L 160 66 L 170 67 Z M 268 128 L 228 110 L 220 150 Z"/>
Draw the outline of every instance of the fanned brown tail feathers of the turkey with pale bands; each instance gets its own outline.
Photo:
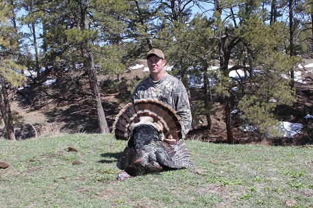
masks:
<path id="1" fill-rule="evenodd" d="M 181 118 L 175 110 L 157 99 L 140 99 L 134 103 L 128 103 L 116 115 L 112 133 L 118 140 L 128 140 L 130 126 L 140 121 L 140 117 L 149 116 L 155 123 L 161 123 L 164 135 L 180 140 L 184 138 L 184 125 L 181 125 Z"/>

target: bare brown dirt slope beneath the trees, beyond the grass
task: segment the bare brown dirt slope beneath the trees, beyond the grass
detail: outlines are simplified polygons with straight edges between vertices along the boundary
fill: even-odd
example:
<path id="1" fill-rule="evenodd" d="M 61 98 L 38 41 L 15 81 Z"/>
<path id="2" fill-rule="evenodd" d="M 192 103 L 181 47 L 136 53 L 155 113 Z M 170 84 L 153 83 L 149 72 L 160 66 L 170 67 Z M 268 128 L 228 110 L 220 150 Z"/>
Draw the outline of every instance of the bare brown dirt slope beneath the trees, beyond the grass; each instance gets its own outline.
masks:
<path id="1" fill-rule="evenodd" d="M 313 60 L 303 60 L 302 66 L 313 63 Z M 138 61 L 144 64 L 145 61 Z M 123 81 L 140 80 L 147 76 L 142 72 L 142 68 L 129 70 L 123 75 Z M 297 103 L 288 107 L 280 107 L 277 116 L 281 121 L 299 122 L 303 125 L 302 133 L 293 138 L 264 139 L 254 133 L 247 133 L 234 127 L 234 139 L 236 144 L 264 144 L 264 145 L 308 145 L 313 144 L 313 119 L 305 119 L 303 116 L 313 115 L 313 67 L 296 67 L 295 71 L 301 71 L 301 76 L 305 78 L 305 83 L 296 83 Z M 45 81 L 45 77 L 42 77 Z M 14 124 L 16 138 L 26 139 L 45 133 L 96 133 L 97 116 L 92 103 L 92 96 L 88 88 L 77 86 L 88 86 L 88 82 L 79 79 L 82 72 L 68 72 L 66 76 L 60 72 L 51 70 L 50 79 L 57 79 L 51 85 L 42 85 L 42 82 L 29 84 L 30 88 L 20 91 L 12 91 L 11 110 L 18 112 L 20 123 Z M 101 89 L 101 99 L 103 109 L 110 129 L 114 122 L 114 117 L 125 103 L 122 102 L 121 94 L 114 89 L 112 80 L 116 77 L 99 76 L 99 88 Z M 110 86 L 110 87 L 108 87 Z M 201 91 L 201 89 L 199 89 Z M 199 93 L 196 92 L 196 93 Z M 187 139 L 201 140 L 205 142 L 227 142 L 225 122 L 223 121 L 222 103 L 214 103 L 218 108 L 216 114 L 212 115 L 212 129 L 207 130 L 205 121 L 199 123 L 197 127 L 190 130 Z M 0 126 L 0 134 L 5 138 L 5 128 Z"/>

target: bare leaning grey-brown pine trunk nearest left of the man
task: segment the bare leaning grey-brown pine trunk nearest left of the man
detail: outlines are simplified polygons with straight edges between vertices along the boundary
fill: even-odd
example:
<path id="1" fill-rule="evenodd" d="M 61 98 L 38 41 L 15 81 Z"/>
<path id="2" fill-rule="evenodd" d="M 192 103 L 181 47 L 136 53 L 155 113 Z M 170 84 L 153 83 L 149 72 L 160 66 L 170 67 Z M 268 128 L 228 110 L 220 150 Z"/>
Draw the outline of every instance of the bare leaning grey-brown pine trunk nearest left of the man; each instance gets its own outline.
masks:
<path id="1" fill-rule="evenodd" d="M 108 123 L 105 119 L 105 114 L 103 111 L 101 96 L 99 93 L 99 86 L 97 81 L 97 71 L 95 68 L 95 63 L 93 60 L 92 54 L 88 53 L 88 64 L 89 64 L 89 78 L 90 78 L 90 86 L 92 88 L 92 92 L 94 94 L 97 118 L 98 118 L 98 127 L 99 133 L 110 133 L 110 129 L 108 127 Z"/>

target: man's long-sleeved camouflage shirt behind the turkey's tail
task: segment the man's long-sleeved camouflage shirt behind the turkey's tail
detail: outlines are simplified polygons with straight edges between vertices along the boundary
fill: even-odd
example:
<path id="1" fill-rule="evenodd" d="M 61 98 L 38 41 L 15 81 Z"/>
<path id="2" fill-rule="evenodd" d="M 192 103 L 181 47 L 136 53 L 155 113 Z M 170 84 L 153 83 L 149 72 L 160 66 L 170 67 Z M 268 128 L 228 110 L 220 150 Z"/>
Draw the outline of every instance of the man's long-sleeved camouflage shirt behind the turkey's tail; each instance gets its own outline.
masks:
<path id="1" fill-rule="evenodd" d="M 158 99 L 176 110 L 184 125 L 186 135 L 191 127 L 191 111 L 188 94 L 183 83 L 176 77 L 164 73 L 159 81 L 153 81 L 150 76 L 143 79 L 136 86 L 133 102 L 138 99 Z"/>

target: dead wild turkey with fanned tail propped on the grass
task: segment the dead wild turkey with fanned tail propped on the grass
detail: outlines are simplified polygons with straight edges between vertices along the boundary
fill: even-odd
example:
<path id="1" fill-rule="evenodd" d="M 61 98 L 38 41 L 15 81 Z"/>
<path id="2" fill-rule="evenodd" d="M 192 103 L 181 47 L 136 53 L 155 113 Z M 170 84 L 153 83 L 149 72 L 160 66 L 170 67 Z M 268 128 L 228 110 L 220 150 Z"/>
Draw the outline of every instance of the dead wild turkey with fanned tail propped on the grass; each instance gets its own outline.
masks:
<path id="1" fill-rule="evenodd" d="M 118 168 L 135 177 L 162 172 L 164 168 L 193 167 L 190 152 L 180 140 L 184 138 L 182 127 L 175 110 L 161 101 L 141 99 L 128 103 L 113 124 L 115 138 L 128 140 Z M 177 144 L 168 144 L 164 138 L 175 138 Z"/>

